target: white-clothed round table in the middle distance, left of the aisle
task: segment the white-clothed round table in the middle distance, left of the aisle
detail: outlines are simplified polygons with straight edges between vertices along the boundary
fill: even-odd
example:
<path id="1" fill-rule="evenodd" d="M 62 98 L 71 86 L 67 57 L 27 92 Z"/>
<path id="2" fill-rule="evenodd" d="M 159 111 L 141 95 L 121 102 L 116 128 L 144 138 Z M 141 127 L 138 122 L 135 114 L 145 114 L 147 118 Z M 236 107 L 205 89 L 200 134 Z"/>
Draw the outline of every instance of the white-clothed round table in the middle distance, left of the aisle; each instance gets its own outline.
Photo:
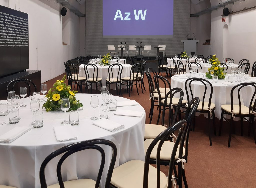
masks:
<path id="1" fill-rule="evenodd" d="M 97 64 L 97 66 L 98 66 L 98 70 L 99 70 L 98 78 L 102 78 L 102 86 L 106 86 L 106 79 L 109 78 L 109 66 L 107 65 L 107 66 L 101 67 L 99 64 Z M 131 68 L 132 68 L 132 66 L 129 64 L 123 65 L 123 71 L 122 71 L 121 78 L 130 76 Z M 117 77 L 118 70 L 119 70 L 118 66 L 115 66 L 113 68 L 114 77 Z M 93 76 L 93 71 L 94 71 L 94 68 L 92 66 L 88 66 L 88 72 L 89 72 L 90 77 Z M 96 70 L 96 72 L 97 72 L 97 70 Z M 95 74 L 97 74 L 96 72 L 95 72 Z M 84 71 L 84 65 L 79 66 L 79 74 L 82 77 L 86 77 L 86 74 Z M 94 77 L 96 77 L 96 76 L 94 76 Z M 96 84 L 92 84 L 92 87 L 93 87 L 93 89 L 96 89 Z M 98 84 L 98 87 L 100 87 L 99 84 Z M 88 86 L 88 88 L 91 88 L 91 86 Z M 127 86 L 122 85 L 122 88 L 127 88 Z M 116 84 L 111 84 L 111 89 L 116 89 Z"/>

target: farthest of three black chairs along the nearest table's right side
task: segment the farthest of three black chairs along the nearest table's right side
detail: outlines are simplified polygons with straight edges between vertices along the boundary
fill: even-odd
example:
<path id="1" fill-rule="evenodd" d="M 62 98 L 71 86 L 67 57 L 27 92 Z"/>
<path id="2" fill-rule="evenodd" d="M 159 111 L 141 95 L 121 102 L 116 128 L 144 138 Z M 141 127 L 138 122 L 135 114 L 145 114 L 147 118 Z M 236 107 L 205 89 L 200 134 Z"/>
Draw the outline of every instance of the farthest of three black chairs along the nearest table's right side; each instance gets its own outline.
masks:
<path id="1" fill-rule="evenodd" d="M 177 98 L 174 98 L 174 95 L 177 93 L 179 93 L 180 98 L 178 99 L 178 103 L 174 104 L 174 101 L 177 102 L 177 100 L 176 100 Z M 156 138 L 157 135 L 162 133 L 164 130 L 167 129 L 167 127 L 170 127 L 171 124 L 173 125 L 176 122 L 176 118 L 177 118 L 178 112 L 180 110 L 180 106 L 182 104 L 183 97 L 184 97 L 184 92 L 181 88 L 173 88 L 172 90 L 170 90 L 167 93 L 166 98 L 164 99 L 162 123 L 161 123 L 161 125 L 160 124 L 159 125 L 146 124 L 144 139 Z M 167 102 L 167 99 L 169 99 L 169 102 Z M 175 105 L 175 114 L 173 115 L 174 105 Z M 166 110 L 169 110 L 168 118 L 167 118 L 168 123 L 165 122 L 165 111 Z"/>

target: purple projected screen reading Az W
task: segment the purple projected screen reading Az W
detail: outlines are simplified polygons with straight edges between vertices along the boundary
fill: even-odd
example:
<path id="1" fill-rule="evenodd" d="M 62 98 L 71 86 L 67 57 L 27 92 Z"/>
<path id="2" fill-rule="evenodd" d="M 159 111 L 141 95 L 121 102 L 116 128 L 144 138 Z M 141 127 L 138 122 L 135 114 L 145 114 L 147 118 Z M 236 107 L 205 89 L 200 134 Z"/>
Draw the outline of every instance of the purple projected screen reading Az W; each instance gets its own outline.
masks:
<path id="1" fill-rule="evenodd" d="M 103 0 L 103 38 L 173 37 L 174 0 Z"/>

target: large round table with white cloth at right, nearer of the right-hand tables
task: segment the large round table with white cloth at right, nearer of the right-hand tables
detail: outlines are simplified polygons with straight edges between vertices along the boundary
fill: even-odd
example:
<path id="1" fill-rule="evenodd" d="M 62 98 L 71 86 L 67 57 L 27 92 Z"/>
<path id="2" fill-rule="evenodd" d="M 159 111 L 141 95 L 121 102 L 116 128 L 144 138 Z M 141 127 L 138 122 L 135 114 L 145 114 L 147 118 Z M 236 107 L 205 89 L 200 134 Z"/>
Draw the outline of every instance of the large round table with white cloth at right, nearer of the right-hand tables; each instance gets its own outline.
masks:
<path id="1" fill-rule="evenodd" d="M 228 75 L 228 76 L 230 76 L 230 75 Z M 197 73 L 197 74 L 195 74 L 195 77 L 200 77 L 200 75 Z M 250 78 L 252 78 L 252 77 L 250 77 Z M 172 82 L 171 82 L 172 88 L 179 87 L 179 88 L 183 89 L 185 100 L 187 100 L 187 94 L 186 94 L 186 90 L 185 90 L 186 79 L 187 78 L 184 74 L 183 75 L 182 74 L 175 75 L 172 77 Z M 206 78 L 205 74 L 204 74 L 204 79 L 207 79 L 210 82 L 212 81 L 211 79 Z M 234 77 L 235 85 L 242 83 L 242 82 L 237 82 L 236 80 L 237 80 L 237 77 Z M 222 83 L 223 81 L 228 81 L 228 79 L 227 80 L 225 80 L 225 79 L 218 80 L 218 83 L 211 83 L 212 87 L 213 87 L 213 94 L 212 94 L 211 102 L 216 105 L 215 117 L 217 117 L 218 119 L 220 119 L 220 117 L 221 117 L 221 105 L 231 104 L 230 93 L 231 93 L 232 88 L 234 87 L 234 85 L 228 86 L 228 85 L 223 84 Z M 247 82 L 247 81 L 243 81 L 243 82 Z M 256 79 L 255 79 L 255 82 L 256 82 Z M 189 85 L 187 85 L 187 87 L 189 89 Z M 194 94 L 194 97 L 199 97 L 200 101 L 202 101 L 204 91 L 205 91 L 204 84 L 202 84 L 200 81 L 193 81 L 191 83 L 191 87 L 192 87 L 192 92 Z M 254 92 L 254 89 L 252 87 L 245 87 L 241 90 L 242 105 L 245 105 L 247 107 L 250 106 L 250 102 L 251 102 L 250 100 L 252 98 L 253 92 Z M 237 89 L 235 89 L 234 95 L 233 95 L 234 104 L 239 104 L 237 93 L 238 93 L 238 91 L 237 91 Z M 210 85 L 207 85 L 207 94 L 205 97 L 205 102 L 209 102 L 209 96 L 210 96 Z M 190 97 L 191 97 L 191 95 L 190 95 Z M 200 115 L 200 114 L 201 113 L 198 113 L 197 115 Z M 228 117 L 228 118 L 230 118 L 230 117 Z M 234 120 L 240 120 L 240 118 L 235 118 Z"/>

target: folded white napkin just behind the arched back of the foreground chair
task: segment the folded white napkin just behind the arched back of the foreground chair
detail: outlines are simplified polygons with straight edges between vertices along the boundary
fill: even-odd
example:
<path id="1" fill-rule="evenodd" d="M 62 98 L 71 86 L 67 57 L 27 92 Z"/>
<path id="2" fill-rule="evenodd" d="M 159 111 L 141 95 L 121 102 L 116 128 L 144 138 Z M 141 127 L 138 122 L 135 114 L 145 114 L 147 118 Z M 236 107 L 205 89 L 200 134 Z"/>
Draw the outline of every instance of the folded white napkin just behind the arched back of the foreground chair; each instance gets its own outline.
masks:
<path id="1" fill-rule="evenodd" d="M 53 129 L 57 142 L 77 139 L 71 125 L 55 126 Z"/>

